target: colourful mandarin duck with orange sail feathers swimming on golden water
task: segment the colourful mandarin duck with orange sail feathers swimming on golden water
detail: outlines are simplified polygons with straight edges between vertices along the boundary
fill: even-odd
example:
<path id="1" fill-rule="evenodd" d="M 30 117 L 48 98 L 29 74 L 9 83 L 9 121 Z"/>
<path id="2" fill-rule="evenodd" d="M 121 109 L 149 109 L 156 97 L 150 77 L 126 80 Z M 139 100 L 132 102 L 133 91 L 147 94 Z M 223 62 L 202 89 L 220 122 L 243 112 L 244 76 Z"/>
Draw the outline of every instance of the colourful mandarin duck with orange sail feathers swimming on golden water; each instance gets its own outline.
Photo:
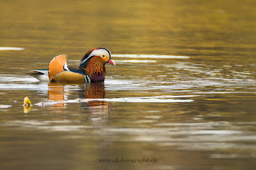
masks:
<path id="1" fill-rule="evenodd" d="M 105 80 L 105 64 L 115 65 L 110 60 L 111 53 L 109 49 L 94 48 L 90 49 L 77 68 L 68 67 L 66 64 L 66 54 L 54 57 L 50 61 L 49 69 L 34 70 L 30 75 L 40 81 L 66 82 L 66 83 L 90 83 L 102 82 Z"/>

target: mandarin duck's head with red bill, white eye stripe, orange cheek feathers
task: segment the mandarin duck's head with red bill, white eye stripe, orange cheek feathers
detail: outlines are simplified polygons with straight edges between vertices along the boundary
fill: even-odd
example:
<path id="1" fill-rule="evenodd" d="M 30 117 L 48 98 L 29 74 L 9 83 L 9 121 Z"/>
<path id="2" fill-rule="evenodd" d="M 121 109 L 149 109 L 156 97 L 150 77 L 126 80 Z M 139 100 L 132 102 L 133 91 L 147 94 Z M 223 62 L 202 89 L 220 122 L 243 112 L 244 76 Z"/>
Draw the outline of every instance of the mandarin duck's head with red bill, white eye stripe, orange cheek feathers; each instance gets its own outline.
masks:
<path id="1" fill-rule="evenodd" d="M 84 57 L 82 57 L 79 68 L 86 69 L 89 74 L 106 73 L 105 64 L 110 63 L 115 65 L 114 61 L 110 60 L 111 53 L 109 49 L 95 48 L 90 49 Z"/>

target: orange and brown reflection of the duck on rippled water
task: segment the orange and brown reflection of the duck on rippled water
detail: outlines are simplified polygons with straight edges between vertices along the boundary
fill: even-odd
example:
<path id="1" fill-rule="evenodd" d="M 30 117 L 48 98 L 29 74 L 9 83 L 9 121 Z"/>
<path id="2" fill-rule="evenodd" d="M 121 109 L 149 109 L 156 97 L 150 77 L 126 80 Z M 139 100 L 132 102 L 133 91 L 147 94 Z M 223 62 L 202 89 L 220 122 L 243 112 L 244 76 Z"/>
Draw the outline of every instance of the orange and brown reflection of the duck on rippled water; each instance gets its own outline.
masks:
<path id="1" fill-rule="evenodd" d="M 50 83 L 48 91 L 48 99 L 50 101 L 63 101 L 51 105 L 51 107 L 59 112 L 66 109 L 66 102 L 76 98 L 98 99 L 105 97 L 104 83 L 90 83 L 84 85 L 65 85 Z M 72 94 L 72 95 L 71 95 Z M 82 109 L 92 114 L 110 114 L 110 104 L 106 101 L 89 101 L 82 104 Z"/>

